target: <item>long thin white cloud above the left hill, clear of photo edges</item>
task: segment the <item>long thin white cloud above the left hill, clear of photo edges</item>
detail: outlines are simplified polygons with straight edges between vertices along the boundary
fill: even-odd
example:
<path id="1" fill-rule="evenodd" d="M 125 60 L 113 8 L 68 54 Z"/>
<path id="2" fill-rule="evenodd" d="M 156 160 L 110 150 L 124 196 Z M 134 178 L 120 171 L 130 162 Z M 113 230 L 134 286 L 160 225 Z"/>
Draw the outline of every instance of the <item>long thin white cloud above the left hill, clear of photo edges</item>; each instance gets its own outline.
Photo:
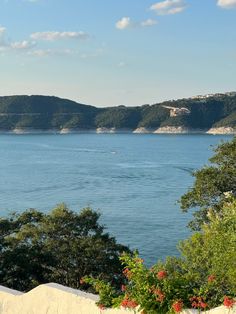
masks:
<path id="1" fill-rule="evenodd" d="M 85 32 L 37 32 L 30 35 L 34 40 L 55 41 L 59 39 L 87 39 Z"/>

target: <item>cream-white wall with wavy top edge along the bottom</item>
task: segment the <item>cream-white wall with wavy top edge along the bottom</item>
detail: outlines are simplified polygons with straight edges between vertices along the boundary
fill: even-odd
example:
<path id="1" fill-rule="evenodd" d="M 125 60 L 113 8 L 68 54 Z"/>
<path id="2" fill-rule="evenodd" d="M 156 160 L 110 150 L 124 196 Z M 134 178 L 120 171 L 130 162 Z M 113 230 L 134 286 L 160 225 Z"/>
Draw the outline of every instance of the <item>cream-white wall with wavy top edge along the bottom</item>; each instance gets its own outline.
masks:
<path id="1" fill-rule="evenodd" d="M 96 295 L 49 283 L 38 286 L 28 293 L 0 286 L 0 314 L 128 314 L 133 311 L 100 311 L 95 302 Z M 183 314 L 198 313 L 184 311 Z M 229 314 L 228 309 L 219 307 L 209 314 Z M 230 314 L 236 313 L 236 308 Z M 158 314 L 158 313 L 157 313 Z"/>

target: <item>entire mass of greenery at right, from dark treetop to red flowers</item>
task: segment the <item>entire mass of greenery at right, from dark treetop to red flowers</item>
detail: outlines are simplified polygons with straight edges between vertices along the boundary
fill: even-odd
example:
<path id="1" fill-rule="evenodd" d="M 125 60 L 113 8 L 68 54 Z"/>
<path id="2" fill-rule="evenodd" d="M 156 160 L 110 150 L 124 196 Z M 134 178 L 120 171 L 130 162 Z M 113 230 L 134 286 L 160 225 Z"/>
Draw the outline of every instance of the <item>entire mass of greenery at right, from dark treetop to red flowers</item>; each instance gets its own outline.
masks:
<path id="1" fill-rule="evenodd" d="M 206 311 L 236 304 L 236 138 L 215 149 L 206 166 L 194 173 L 194 186 L 181 199 L 187 210 L 199 206 L 190 227 L 195 232 L 181 241 L 180 257 L 168 257 L 147 268 L 136 252 L 123 254 L 123 285 L 114 289 L 86 277 L 100 294 L 101 308 L 135 309 L 142 314 L 180 313 L 184 308 Z"/>

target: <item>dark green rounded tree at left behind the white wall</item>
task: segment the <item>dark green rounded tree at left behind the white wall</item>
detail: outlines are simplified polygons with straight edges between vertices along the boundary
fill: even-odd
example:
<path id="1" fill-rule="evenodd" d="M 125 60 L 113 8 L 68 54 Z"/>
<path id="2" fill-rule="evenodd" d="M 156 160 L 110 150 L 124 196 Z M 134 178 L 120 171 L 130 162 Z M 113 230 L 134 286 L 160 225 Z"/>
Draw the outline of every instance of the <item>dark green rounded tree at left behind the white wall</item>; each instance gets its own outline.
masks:
<path id="1" fill-rule="evenodd" d="M 1 284 L 22 291 L 50 281 L 80 288 L 89 275 L 119 285 L 119 255 L 129 249 L 104 232 L 99 216 L 62 204 L 49 214 L 32 209 L 1 218 Z"/>

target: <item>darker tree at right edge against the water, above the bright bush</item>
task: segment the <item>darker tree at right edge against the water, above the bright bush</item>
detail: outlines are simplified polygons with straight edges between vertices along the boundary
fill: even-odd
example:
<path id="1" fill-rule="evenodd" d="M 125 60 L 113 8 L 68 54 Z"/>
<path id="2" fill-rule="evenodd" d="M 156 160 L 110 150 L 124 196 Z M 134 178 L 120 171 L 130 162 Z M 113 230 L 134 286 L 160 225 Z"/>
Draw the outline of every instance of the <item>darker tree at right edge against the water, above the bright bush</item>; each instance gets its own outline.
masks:
<path id="1" fill-rule="evenodd" d="M 193 173 L 193 187 L 181 199 L 181 208 L 199 208 L 190 227 L 199 230 L 204 222 L 209 222 L 209 211 L 219 212 L 222 202 L 230 192 L 236 195 L 236 137 L 219 145 L 210 158 L 211 165 Z"/>

